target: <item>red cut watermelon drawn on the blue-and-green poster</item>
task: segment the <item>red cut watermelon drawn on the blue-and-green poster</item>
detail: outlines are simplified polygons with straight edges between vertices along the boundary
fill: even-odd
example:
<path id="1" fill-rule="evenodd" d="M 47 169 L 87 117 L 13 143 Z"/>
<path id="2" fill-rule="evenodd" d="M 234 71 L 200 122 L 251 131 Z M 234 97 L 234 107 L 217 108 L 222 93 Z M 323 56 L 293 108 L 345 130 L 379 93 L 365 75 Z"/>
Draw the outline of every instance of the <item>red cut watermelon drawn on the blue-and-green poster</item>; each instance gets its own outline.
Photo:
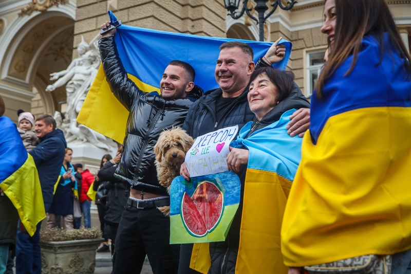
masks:
<path id="1" fill-rule="evenodd" d="M 187 231 L 202 237 L 214 230 L 221 220 L 224 195 L 211 181 L 198 184 L 190 197 L 184 192 L 181 200 L 181 218 Z"/>

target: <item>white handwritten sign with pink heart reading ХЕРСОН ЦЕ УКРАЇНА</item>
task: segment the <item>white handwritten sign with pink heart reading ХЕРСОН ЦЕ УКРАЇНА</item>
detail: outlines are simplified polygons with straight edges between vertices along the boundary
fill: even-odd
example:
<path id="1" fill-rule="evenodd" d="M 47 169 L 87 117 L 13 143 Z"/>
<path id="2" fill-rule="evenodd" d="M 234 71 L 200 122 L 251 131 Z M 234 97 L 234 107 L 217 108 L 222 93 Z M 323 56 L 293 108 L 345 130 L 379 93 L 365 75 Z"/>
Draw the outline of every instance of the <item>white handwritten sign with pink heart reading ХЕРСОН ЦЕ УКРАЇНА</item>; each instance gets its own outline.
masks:
<path id="1" fill-rule="evenodd" d="M 185 165 L 190 177 L 228 171 L 227 155 L 230 142 L 238 132 L 238 125 L 197 137 L 185 155 Z"/>

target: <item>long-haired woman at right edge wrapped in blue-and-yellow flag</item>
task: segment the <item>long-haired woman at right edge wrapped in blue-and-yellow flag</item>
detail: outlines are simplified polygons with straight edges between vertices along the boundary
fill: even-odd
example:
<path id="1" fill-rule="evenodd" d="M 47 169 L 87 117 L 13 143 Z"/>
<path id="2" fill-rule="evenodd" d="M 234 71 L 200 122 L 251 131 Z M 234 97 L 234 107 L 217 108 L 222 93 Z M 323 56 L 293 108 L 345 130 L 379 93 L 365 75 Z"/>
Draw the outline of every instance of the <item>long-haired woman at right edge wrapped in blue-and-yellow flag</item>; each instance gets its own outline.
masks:
<path id="1" fill-rule="evenodd" d="M 310 273 L 389 273 L 392 259 L 393 274 L 405 273 L 410 57 L 384 0 L 327 0 L 324 15 L 331 50 L 284 214 L 284 262 Z"/>

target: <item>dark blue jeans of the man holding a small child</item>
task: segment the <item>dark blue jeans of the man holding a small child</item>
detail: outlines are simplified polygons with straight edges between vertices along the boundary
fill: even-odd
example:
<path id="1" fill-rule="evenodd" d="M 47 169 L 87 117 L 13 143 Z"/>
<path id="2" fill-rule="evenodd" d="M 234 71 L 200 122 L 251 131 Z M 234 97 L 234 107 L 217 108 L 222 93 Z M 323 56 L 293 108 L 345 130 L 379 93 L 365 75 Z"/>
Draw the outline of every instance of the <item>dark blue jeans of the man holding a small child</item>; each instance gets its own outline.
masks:
<path id="1" fill-rule="evenodd" d="M 51 204 L 44 204 L 46 212 Z M 40 249 L 40 228 L 42 222 L 37 224 L 31 237 L 27 231 L 20 231 L 20 222 L 17 225 L 16 238 L 16 273 L 41 274 L 42 254 Z M 25 229 L 24 229 L 25 230 Z"/>

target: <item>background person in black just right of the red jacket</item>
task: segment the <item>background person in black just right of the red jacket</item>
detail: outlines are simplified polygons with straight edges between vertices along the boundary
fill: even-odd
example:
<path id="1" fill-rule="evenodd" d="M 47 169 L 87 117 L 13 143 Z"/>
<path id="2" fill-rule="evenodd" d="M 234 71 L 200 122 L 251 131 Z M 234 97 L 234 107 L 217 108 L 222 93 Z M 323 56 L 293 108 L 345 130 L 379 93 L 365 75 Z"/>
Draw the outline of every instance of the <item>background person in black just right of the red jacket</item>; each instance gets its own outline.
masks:
<path id="1" fill-rule="evenodd" d="M 113 159 L 110 154 L 106 154 L 103 156 L 100 162 L 100 169 L 105 165 L 105 163 L 109 160 Z M 98 171 L 97 171 L 98 174 Z M 95 191 L 102 191 L 105 188 L 105 181 L 100 180 L 99 176 L 96 174 L 96 180 L 94 181 L 93 188 Z M 106 225 L 104 223 L 104 215 L 105 215 L 105 206 L 101 204 L 100 200 L 97 199 L 96 197 L 96 205 L 97 205 L 97 210 L 99 212 L 99 220 L 100 220 L 100 229 L 103 231 L 103 238 L 104 242 L 103 245 L 97 249 L 97 252 L 109 252 L 110 248 L 108 246 L 108 232 L 106 231 Z"/>

